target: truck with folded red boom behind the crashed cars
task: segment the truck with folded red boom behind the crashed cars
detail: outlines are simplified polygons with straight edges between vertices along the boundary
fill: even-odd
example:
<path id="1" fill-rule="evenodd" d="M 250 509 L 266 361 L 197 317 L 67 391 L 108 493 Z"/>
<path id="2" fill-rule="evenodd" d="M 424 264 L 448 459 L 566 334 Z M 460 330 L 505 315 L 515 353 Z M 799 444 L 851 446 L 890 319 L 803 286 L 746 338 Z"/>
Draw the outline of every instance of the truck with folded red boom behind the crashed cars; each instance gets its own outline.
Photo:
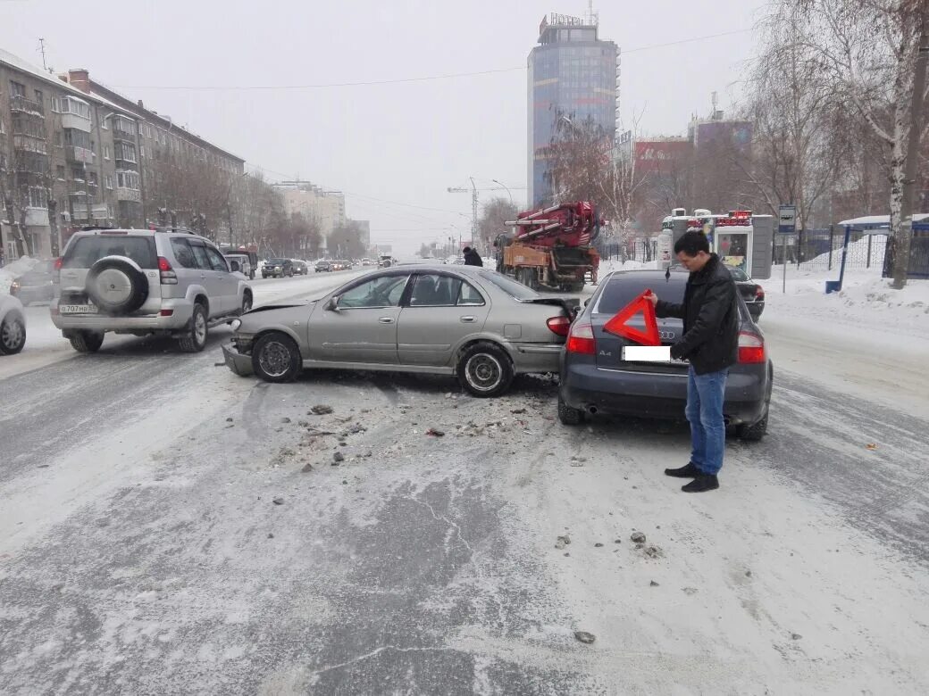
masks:
<path id="1" fill-rule="evenodd" d="M 592 246 L 600 233 L 594 205 L 582 200 L 519 213 L 507 226 L 512 235 L 494 241 L 497 270 L 533 290 L 577 292 L 596 282 L 600 255 Z"/>

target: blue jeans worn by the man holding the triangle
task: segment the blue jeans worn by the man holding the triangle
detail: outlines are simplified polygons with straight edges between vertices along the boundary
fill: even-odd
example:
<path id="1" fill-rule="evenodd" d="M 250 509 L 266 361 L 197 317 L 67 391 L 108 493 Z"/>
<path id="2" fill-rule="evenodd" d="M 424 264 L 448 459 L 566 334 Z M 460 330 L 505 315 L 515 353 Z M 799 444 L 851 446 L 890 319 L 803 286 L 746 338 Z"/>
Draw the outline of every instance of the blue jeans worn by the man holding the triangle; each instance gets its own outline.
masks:
<path id="1" fill-rule="evenodd" d="M 693 449 L 690 461 L 703 473 L 716 474 L 723 468 L 726 450 L 726 422 L 723 420 L 723 399 L 729 369 L 698 375 L 694 368 L 687 371 L 687 408 L 684 413 L 690 423 Z"/>

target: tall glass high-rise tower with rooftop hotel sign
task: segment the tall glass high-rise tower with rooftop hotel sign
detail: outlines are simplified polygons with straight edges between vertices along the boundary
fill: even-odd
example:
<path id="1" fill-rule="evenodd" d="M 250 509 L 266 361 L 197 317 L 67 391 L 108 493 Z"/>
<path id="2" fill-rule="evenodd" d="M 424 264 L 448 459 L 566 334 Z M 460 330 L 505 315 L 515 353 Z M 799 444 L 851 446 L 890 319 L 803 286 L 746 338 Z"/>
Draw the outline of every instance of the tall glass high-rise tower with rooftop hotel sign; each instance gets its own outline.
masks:
<path id="1" fill-rule="evenodd" d="M 546 150 L 560 115 L 602 126 L 610 139 L 619 113 L 620 49 L 597 36 L 597 19 L 552 14 L 529 55 L 529 201 L 549 202 Z"/>

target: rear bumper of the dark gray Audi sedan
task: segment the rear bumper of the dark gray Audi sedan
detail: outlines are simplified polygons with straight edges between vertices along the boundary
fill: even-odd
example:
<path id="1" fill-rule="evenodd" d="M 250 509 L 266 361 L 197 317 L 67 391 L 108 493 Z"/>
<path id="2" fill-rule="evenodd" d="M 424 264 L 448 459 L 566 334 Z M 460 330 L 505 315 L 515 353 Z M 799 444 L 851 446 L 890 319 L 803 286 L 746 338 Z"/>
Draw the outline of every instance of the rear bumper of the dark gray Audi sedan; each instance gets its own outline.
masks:
<path id="1" fill-rule="evenodd" d="M 681 420 L 687 405 L 687 373 L 640 373 L 569 365 L 562 367 L 559 394 L 565 404 L 582 411 Z M 730 371 L 723 405 L 726 422 L 757 422 L 765 413 L 766 394 L 763 370 L 757 374 Z"/>

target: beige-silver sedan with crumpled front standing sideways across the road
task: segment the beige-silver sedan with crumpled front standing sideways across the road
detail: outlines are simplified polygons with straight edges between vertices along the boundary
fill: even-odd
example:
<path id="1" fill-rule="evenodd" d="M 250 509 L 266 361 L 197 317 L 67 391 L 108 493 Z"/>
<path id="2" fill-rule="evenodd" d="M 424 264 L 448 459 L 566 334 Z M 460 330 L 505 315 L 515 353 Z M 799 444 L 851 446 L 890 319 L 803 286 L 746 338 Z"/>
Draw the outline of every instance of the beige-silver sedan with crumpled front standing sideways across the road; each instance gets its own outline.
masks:
<path id="1" fill-rule="evenodd" d="M 399 266 L 233 319 L 223 353 L 236 374 L 268 381 L 305 367 L 430 373 L 490 397 L 515 374 L 556 370 L 576 304 L 486 268 Z"/>

